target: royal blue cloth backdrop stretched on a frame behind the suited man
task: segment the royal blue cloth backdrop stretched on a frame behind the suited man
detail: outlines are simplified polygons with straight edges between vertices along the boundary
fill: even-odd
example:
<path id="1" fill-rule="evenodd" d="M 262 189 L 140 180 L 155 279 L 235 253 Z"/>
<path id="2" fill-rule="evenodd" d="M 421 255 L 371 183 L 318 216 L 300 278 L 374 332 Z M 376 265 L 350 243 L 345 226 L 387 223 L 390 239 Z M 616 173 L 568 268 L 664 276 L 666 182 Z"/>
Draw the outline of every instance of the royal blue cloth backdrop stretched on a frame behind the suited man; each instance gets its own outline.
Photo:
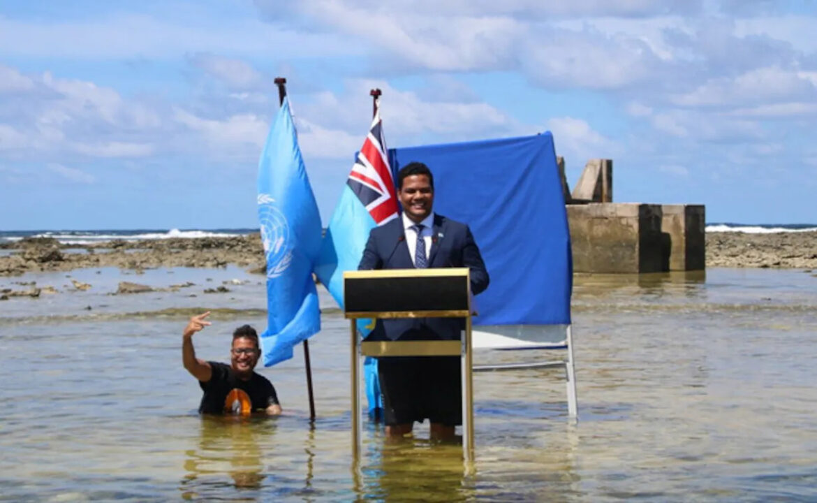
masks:
<path id="1" fill-rule="evenodd" d="M 467 223 L 491 276 L 475 325 L 567 325 L 573 263 L 550 132 L 390 150 L 434 174 L 434 211 Z"/>

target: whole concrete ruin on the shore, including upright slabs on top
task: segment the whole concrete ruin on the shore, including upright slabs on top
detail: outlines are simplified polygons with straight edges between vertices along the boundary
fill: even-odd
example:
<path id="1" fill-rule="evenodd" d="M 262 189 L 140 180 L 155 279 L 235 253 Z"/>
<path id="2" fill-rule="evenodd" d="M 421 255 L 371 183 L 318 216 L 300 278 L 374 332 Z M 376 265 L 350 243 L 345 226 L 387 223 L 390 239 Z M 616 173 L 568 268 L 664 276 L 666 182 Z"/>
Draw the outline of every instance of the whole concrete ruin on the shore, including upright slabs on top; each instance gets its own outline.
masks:
<path id="1" fill-rule="evenodd" d="M 703 204 L 613 202 L 612 159 L 591 159 L 574 191 L 556 159 L 574 272 L 699 271 L 706 267 Z"/>

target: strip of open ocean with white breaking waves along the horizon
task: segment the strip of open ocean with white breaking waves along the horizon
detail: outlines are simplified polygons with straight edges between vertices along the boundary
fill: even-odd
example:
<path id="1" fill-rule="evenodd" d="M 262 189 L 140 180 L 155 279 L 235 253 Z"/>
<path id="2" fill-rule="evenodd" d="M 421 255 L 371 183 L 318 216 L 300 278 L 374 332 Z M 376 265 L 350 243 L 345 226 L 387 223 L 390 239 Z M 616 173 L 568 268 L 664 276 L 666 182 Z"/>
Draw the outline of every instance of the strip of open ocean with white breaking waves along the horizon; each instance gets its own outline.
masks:
<path id="1" fill-rule="evenodd" d="M 234 237 L 258 232 L 258 227 L 225 227 L 215 229 L 34 229 L 28 231 L 0 231 L 0 243 L 22 240 L 26 237 L 51 237 L 63 245 L 90 245 L 109 240 L 166 240 L 174 238 Z M 707 232 L 743 232 L 770 234 L 774 232 L 817 231 L 817 223 L 734 223 L 710 222 Z"/>

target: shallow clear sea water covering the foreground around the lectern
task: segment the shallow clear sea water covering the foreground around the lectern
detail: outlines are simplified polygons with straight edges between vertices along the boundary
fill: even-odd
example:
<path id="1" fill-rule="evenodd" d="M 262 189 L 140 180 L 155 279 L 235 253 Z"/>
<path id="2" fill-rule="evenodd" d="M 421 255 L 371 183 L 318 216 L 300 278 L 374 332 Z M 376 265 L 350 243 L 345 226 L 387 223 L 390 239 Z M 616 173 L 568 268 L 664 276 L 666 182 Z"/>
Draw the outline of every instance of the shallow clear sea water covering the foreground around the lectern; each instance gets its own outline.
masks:
<path id="1" fill-rule="evenodd" d="M 266 326 L 262 280 L 234 267 L 0 278 L 60 290 L 0 302 L 0 501 L 817 501 L 814 273 L 576 276 L 578 422 L 561 371 L 476 374 L 472 474 L 426 425 L 392 443 L 366 424 L 352 469 L 348 325 L 332 309 L 310 340 L 314 427 L 301 348 L 260 369 L 282 417 L 199 417 L 186 318 L 217 309 L 194 340 L 225 361 L 235 326 Z M 195 285 L 110 295 L 118 281 Z"/>

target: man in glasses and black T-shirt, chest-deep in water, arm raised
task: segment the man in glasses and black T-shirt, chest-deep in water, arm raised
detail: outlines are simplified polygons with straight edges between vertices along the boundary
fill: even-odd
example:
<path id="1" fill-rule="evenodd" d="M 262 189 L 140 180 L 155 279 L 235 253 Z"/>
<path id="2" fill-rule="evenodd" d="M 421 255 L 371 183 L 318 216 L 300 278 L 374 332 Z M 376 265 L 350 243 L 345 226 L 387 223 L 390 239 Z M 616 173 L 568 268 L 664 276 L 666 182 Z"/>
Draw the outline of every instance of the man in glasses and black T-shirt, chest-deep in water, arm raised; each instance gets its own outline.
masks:
<path id="1" fill-rule="evenodd" d="M 181 361 L 193 377 L 199 379 L 204 395 L 200 414 L 243 414 L 264 411 L 279 415 L 278 395 L 269 379 L 253 371 L 261 356 L 258 334 L 252 326 L 239 326 L 233 332 L 230 365 L 205 362 L 196 358 L 193 335 L 210 322 L 210 312 L 191 317 L 181 333 Z"/>

